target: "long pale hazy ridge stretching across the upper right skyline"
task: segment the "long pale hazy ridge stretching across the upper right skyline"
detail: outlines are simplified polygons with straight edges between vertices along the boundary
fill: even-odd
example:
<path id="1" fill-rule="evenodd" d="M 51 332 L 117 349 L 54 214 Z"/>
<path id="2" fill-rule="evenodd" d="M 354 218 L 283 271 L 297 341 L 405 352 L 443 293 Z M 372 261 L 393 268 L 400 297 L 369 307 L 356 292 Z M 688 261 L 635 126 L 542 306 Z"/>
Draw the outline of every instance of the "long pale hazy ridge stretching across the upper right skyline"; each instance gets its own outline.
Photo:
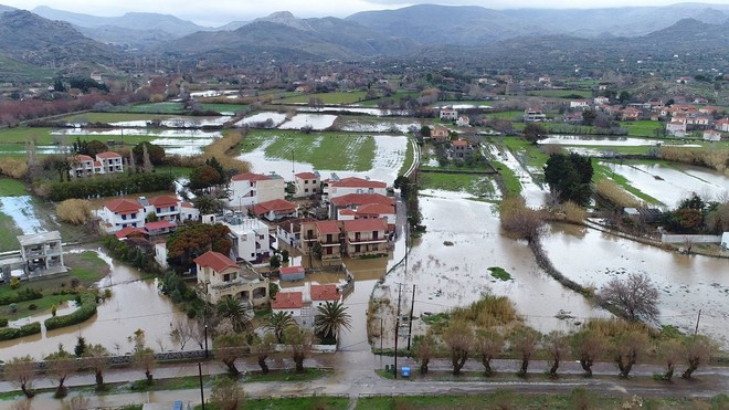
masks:
<path id="1" fill-rule="evenodd" d="M 384 35 L 418 39 L 424 44 L 477 45 L 529 35 L 638 36 L 686 18 L 720 24 L 729 19 L 729 6 L 684 3 L 587 10 L 492 10 L 472 6 L 419 4 L 359 12 L 346 20 Z"/>

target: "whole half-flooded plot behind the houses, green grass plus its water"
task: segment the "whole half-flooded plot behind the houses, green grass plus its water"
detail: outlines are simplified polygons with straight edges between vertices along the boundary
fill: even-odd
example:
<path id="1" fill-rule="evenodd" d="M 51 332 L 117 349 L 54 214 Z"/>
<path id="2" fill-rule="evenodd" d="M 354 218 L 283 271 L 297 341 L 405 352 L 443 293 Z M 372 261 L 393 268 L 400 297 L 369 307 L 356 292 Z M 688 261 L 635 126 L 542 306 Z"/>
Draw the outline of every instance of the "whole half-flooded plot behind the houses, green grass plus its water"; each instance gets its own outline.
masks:
<path id="1" fill-rule="evenodd" d="M 392 182 L 405 164 L 408 144 L 404 136 L 254 130 L 243 140 L 240 158 L 254 172 L 275 171 L 286 179 L 318 170 L 323 178 L 336 171 L 340 177 L 369 176 Z"/>

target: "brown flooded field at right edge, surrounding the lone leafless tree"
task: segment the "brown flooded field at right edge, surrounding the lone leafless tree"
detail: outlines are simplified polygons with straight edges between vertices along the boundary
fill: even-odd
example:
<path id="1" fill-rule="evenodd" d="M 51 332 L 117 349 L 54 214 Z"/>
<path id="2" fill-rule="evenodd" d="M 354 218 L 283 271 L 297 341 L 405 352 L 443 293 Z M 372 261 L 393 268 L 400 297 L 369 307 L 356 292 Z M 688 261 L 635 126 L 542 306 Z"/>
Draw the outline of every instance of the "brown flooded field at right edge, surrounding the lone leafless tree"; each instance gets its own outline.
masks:
<path id="1" fill-rule="evenodd" d="M 729 347 L 729 260 L 683 255 L 600 231 L 556 225 L 545 250 L 567 277 L 598 288 L 630 273 L 651 276 L 661 292 L 662 325 L 690 333 L 701 309 L 699 332 Z"/>

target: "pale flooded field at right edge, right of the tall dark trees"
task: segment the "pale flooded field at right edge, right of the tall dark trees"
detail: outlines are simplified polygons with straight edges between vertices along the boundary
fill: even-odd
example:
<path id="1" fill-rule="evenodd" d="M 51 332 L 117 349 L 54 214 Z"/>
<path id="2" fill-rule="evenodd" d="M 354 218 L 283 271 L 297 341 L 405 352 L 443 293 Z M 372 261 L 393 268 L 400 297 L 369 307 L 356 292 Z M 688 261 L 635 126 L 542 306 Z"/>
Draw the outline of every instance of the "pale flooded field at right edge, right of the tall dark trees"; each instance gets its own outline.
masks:
<path id="1" fill-rule="evenodd" d="M 633 187 L 672 209 L 694 192 L 709 200 L 723 198 L 729 193 L 729 177 L 707 168 L 604 164 L 616 175 L 625 177 Z"/>

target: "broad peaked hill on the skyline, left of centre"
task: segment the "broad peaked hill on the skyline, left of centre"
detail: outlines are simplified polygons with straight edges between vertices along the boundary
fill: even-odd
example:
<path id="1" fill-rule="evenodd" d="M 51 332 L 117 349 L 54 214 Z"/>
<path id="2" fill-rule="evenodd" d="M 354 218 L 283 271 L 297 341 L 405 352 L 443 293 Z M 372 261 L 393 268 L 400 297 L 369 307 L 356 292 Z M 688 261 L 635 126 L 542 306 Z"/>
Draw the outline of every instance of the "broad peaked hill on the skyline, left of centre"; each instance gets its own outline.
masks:
<path id="1" fill-rule="evenodd" d="M 290 13 L 274 13 L 234 31 L 198 32 L 166 43 L 160 50 L 205 56 L 244 55 L 251 50 L 270 49 L 289 56 L 359 60 L 402 55 L 416 46 L 412 40 L 382 35 L 341 19 L 296 19 Z"/>

